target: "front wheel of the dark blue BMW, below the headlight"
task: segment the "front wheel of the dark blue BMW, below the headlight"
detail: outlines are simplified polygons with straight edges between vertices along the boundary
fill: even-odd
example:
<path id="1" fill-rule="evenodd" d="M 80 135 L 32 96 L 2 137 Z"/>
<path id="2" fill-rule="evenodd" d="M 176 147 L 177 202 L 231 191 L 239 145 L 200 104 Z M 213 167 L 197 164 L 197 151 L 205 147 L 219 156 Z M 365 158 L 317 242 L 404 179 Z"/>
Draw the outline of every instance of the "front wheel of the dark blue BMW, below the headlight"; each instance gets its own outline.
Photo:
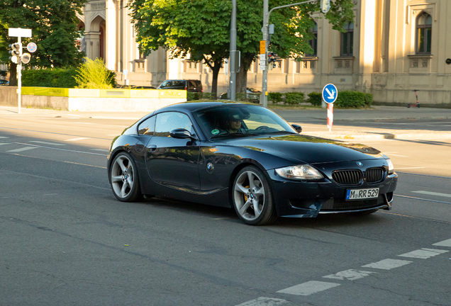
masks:
<path id="1" fill-rule="evenodd" d="M 269 183 L 256 166 L 241 169 L 233 181 L 233 208 L 247 225 L 269 225 L 277 219 Z"/>

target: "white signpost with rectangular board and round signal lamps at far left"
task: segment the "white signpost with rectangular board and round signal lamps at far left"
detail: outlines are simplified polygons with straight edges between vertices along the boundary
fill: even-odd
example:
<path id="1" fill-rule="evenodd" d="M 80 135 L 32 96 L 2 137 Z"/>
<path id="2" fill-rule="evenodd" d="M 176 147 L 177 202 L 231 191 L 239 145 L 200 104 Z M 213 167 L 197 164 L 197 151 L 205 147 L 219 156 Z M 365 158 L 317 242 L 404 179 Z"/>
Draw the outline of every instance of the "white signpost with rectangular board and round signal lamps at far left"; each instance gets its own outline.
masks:
<path id="1" fill-rule="evenodd" d="M 31 29 L 23 29 L 23 28 L 9 28 L 8 29 L 9 37 L 16 37 L 17 42 L 9 45 L 11 48 L 11 57 L 9 60 L 14 64 L 17 64 L 17 95 L 18 95 L 18 111 L 17 113 L 21 113 L 21 103 L 22 103 L 22 63 L 28 64 L 31 60 L 31 55 L 29 53 L 22 53 L 22 38 L 30 38 L 31 37 Z M 29 52 L 35 52 L 38 47 L 34 42 L 30 42 L 27 45 L 27 50 Z"/>

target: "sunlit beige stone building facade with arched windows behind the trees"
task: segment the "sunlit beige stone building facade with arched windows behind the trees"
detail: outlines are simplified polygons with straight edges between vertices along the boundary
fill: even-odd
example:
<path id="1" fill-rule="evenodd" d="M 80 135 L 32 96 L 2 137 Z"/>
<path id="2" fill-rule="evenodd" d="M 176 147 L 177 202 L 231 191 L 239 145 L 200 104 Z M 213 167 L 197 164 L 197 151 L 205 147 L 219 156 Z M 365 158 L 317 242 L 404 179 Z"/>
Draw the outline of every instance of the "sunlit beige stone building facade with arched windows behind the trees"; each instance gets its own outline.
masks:
<path id="1" fill-rule="evenodd" d="M 451 1 L 355 0 L 355 20 L 346 33 L 333 30 L 322 14 L 311 41 L 315 52 L 304 60 L 286 59 L 269 71 L 269 91 L 321 91 L 333 83 L 339 90 L 374 95 L 377 103 L 420 102 L 451 107 Z M 126 0 L 91 0 L 79 16 L 85 29 L 85 52 L 101 57 L 116 71 L 118 84 L 158 86 L 165 79 L 200 79 L 209 91 L 212 74 L 206 64 L 170 60 L 161 49 L 143 57 L 135 42 Z M 255 42 L 256 44 L 259 42 Z M 218 77 L 218 93 L 228 88 L 227 65 Z M 124 70 L 128 74 L 123 74 Z M 127 79 L 127 80 L 126 80 Z M 255 62 L 247 87 L 260 89 L 262 72 Z"/>

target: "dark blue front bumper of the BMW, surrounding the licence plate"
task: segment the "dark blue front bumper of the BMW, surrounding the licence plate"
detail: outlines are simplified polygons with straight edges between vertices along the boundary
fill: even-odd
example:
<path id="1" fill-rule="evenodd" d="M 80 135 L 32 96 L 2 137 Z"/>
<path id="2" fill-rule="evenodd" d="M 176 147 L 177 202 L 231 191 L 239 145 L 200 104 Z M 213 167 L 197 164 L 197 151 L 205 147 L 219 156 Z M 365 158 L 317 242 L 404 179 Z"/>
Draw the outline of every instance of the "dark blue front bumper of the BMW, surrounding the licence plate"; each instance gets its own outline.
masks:
<path id="1" fill-rule="evenodd" d="M 380 163 L 380 161 L 378 161 Z M 366 161 L 368 164 L 368 161 Z M 376 165 L 377 161 L 374 161 Z M 277 175 L 274 170 L 267 171 L 272 186 L 274 203 L 279 217 L 316 217 L 318 214 L 362 212 L 365 210 L 391 210 L 393 193 L 398 182 L 398 175 L 385 176 L 380 183 L 366 183 L 359 186 L 341 186 L 329 179 L 333 170 L 347 169 L 348 162 L 323 167 L 325 179 L 318 182 L 292 181 Z M 372 164 L 372 163 L 371 163 Z M 380 166 L 380 164 L 379 164 Z M 317 167 L 318 168 L 318 167 Z M 388 169 L 387 169 L 388 170 Z M 347 189 L 379 188 L 379 197 L 371 200 L 345 200 Z"/>

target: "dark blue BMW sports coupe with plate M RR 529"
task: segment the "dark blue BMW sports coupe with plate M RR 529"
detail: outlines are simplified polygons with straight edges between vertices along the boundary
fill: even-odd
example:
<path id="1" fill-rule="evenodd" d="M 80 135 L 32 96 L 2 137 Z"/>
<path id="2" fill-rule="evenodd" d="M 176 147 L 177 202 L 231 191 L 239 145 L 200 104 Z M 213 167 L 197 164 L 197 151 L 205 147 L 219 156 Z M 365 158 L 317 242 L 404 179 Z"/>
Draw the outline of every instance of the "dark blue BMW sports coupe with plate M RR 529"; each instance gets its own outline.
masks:
<path id="1" fill-rule="evenodd" d="M 388 157 L 301 130 L 262 106 L 167 106 L 113 140 L 108 179 L 124 202 L 158 196 L 233 207 L 249 225 L 391 209 L 398 176 Z"/>

